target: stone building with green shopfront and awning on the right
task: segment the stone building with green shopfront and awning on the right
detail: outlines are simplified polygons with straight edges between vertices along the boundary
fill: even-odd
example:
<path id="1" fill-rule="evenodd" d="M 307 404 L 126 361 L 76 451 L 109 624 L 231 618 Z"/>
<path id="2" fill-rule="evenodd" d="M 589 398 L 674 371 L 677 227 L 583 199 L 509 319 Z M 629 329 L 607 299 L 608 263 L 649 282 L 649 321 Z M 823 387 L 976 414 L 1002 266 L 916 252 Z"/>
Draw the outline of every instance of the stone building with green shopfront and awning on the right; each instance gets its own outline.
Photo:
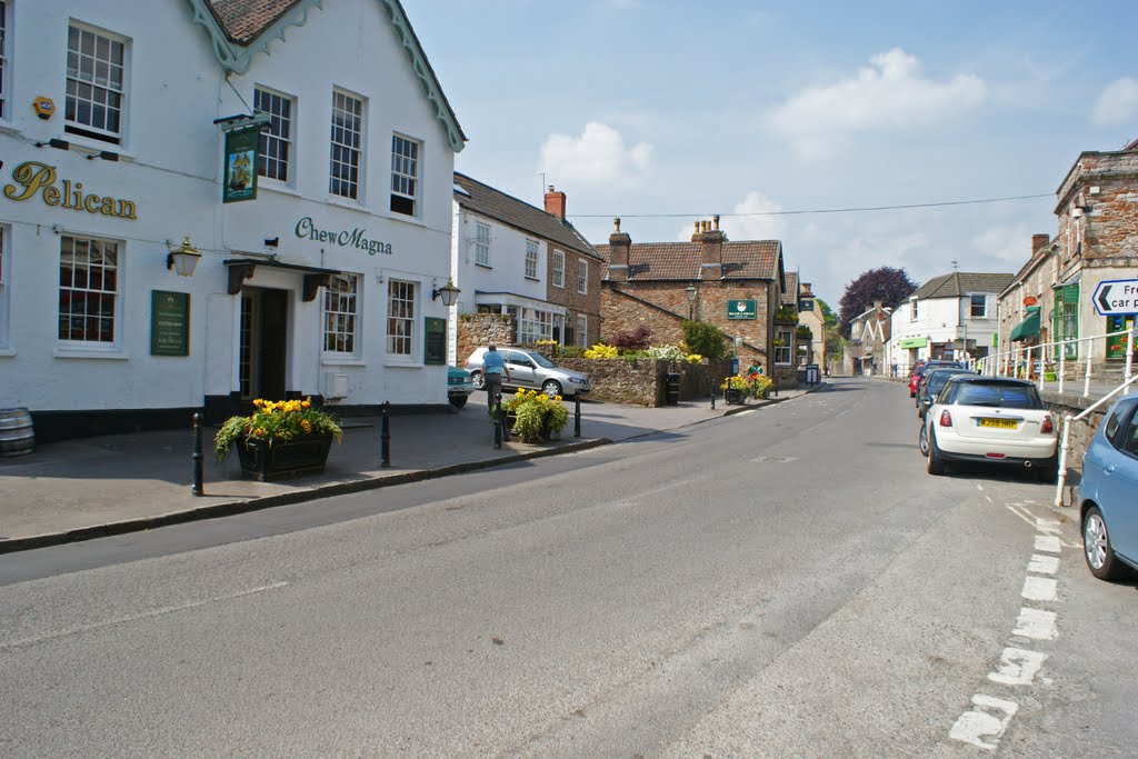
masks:
<path id="1" fill-rule="evenodd" d="M 1133 314 L 1099 313 L 1094 295 L 1102 282 L 1138 278 L 1138 140 L 1122 150 L 1080 154 L 1056 199 L 1057 233 L 1032 238 L 1031 257 L 999 296 L 1000 350 L 1133 325 Z M 1069 343 L 1066 358 L 1086 360 L 1088 345 L 1096 366 L 1125 358 L 1124 337 Z M 1047 350 L 1048 363 L 1058 349 Z"/>

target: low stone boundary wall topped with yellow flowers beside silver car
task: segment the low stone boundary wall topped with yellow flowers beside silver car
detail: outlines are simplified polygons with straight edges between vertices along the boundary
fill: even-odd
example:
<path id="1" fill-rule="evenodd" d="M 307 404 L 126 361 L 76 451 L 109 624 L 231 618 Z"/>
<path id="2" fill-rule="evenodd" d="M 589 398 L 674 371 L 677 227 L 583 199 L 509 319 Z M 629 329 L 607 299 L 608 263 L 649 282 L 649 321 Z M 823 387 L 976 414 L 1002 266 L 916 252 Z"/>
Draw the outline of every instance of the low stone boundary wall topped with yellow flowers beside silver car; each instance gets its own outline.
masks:
<path id="1" fill-rule="evenodd" d="M 679 372 L 679 399 L 694 401 L 716 394 L 718 383 L 731 373 L 731 362 L 714 361 L 708 365 L 662 361 L 659 358 L 555 358 L 554 363 L 588 377 L 593 389 L 589 398 L 627 403 L 654 409 L 665 405 L 667 376 Z"/>

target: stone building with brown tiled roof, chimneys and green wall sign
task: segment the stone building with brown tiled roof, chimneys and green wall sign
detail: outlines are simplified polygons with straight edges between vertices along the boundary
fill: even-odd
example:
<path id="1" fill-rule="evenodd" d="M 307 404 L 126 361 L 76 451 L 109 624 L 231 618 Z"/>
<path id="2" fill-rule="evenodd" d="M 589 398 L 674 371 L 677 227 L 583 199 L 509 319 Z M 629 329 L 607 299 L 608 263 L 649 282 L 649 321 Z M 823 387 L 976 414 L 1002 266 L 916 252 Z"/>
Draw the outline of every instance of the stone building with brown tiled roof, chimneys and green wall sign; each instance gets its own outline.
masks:
<path id="1" fill-rule="evenodd" d="M 733 341 L 742 365 L 758 361 L 793 383 L 798 304 L 783 306 L 780 240 L 728 241 L 715 216 L 695 222 L 690 242 L 634 244 L 618 218 L 609 245 L 595 248 L 608 261 L 602 338 L 643 324 L 653 344 L 676 344 L 685 320 L 709 322 Z"/>

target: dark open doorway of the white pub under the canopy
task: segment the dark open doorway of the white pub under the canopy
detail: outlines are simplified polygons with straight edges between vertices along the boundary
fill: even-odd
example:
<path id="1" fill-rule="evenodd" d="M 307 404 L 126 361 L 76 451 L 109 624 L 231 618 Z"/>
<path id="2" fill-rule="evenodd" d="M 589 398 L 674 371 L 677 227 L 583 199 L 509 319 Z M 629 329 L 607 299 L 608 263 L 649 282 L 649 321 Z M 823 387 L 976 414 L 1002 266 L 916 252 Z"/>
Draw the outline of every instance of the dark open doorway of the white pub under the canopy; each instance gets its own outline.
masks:
<path id="1" fill-rule="evenodd" d="M 288 372 L 288 290 L 241 288 L 238 379 L 241 401 L 283 401 Z"/>

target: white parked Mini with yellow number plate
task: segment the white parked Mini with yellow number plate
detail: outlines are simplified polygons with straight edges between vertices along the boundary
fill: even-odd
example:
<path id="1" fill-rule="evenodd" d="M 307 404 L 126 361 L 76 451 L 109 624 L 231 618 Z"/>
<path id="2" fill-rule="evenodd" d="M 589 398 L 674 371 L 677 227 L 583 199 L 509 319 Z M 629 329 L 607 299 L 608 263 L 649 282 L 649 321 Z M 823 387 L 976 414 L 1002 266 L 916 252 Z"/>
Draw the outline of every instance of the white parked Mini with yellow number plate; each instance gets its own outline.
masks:
<path id="1" fill-rule="evenodd" d="M 953 461 L 1034 469 L 1040 481 L 1058 471 L 1056 418 L 1036 386 L 1007 377 L 956 374 L 925 412 L 918 445 L 930 475 Z"/>

